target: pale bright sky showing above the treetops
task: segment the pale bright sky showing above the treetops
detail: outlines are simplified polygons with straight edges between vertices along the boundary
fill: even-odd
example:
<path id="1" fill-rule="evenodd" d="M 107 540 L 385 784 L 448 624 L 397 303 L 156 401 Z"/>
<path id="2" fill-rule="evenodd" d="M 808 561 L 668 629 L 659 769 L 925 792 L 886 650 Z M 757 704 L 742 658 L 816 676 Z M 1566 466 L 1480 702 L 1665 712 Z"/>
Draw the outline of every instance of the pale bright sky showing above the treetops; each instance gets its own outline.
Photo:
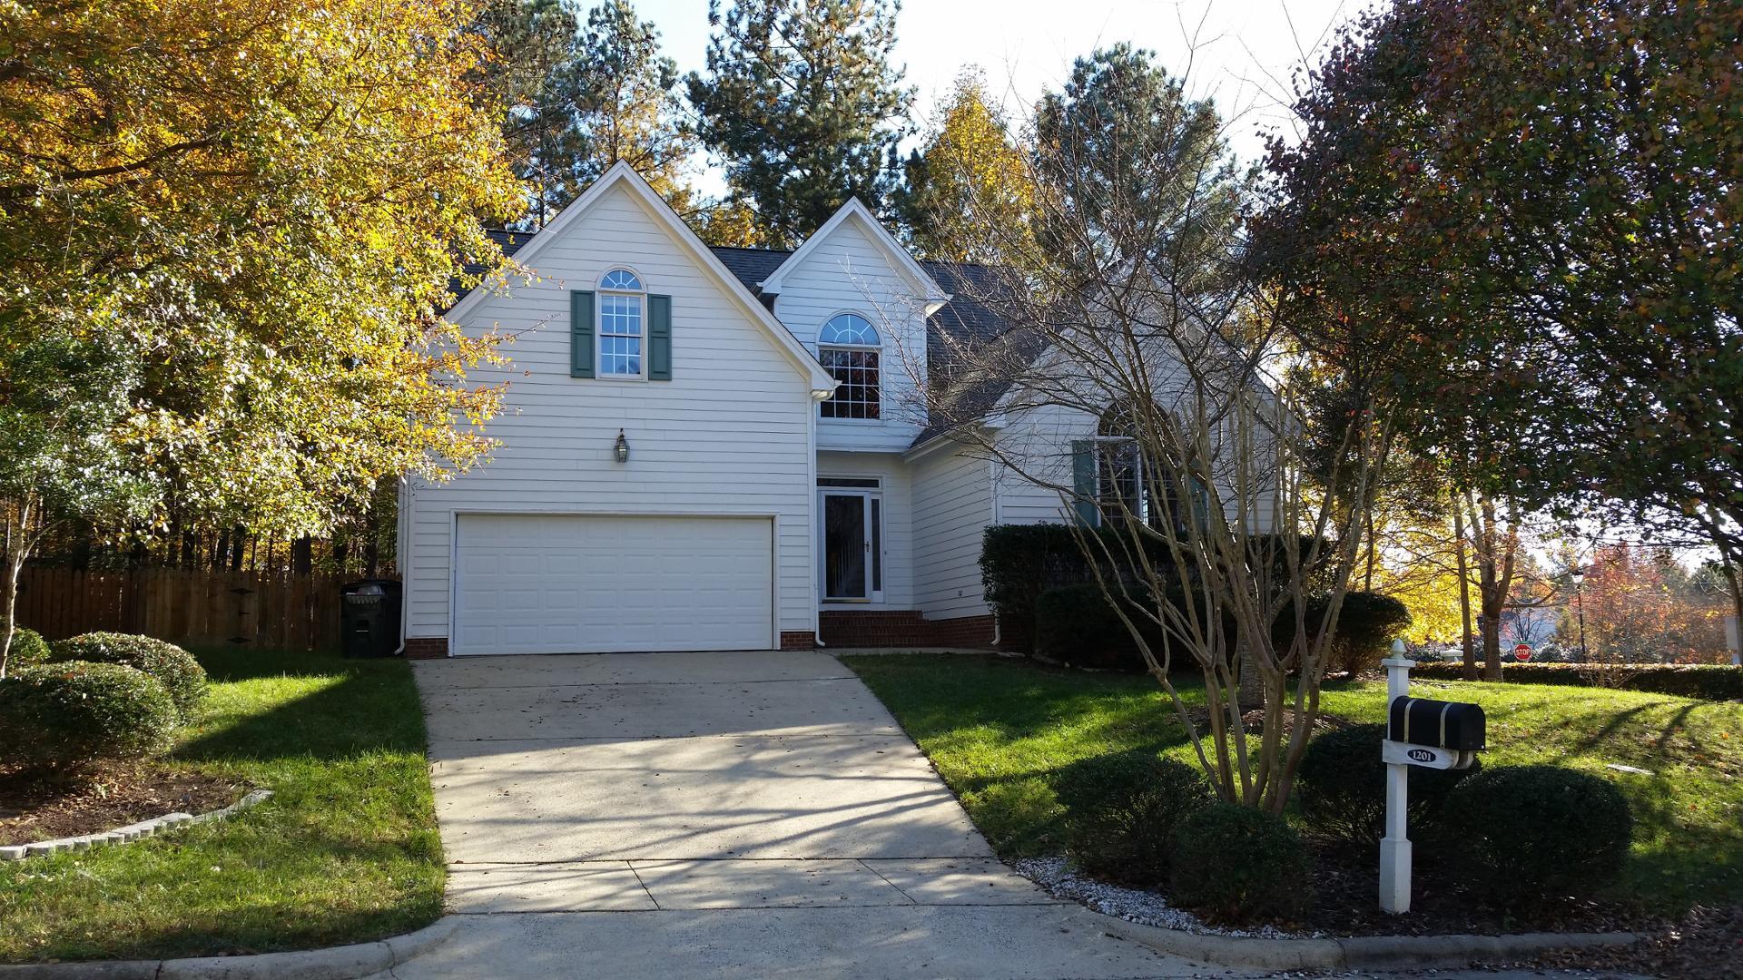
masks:
<path id="1" fill-rule="evenodd" d="M 896 58 L 919 89 L 917 115 L 931 115 L 964 65 L 980 65 L 1013 108 L 1058 87 L 1070 63 L 1096 45 L 1129 40 L 1183 73 L 1196 96 L 1213 96 L 1229 140 L 1245 159 L 1264 143 L 1260 127 L 1286 126 L 1281 99 L 1290 73 L 1330 28 L 1365 0 L 908 0 L 896 21 Z M 708 0 L 638 0 L 659 24 L 666 52 L 683 71 L 708 51 Z M 1196 44 L 1189 38 L 1197 38 Z M 704 187 L 713 190 L 713 181 Z"/>

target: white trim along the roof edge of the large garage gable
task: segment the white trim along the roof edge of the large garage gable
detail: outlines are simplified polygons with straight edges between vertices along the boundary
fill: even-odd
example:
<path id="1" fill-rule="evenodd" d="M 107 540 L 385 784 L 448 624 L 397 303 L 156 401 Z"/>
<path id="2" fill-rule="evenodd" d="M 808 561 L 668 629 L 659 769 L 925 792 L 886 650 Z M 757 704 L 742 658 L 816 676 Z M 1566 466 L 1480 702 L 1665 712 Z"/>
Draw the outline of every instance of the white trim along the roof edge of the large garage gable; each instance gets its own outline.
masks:
<path id="1" fill-rule="evenodd" d="M 793 366 L 809 378 L 814 398 L 816 392 L 835 391 L 835 377 L 823 370 L 823 364 L 819 364 L 810 350 L 807 350 L 805 345 L 793 337 L 793 331 L 776 319 L 776 316 L 769 312 L 769 309 L 763 307 L 755 295 L 751 295 L 749 288 L 746 288 L 737 276 L 729 272 L 727 267 L 720 263 L 715 253 L 702 244 L 702 239 L 695 237 L 695 232 L 683 223 L 683 218 L 678 218 L 671 206 L 666 204 L 666 201 L 661 199 L 661 195 L 655 194 L 645 180 L 641 180 L 641 174 L 622 160 L 612 164 L 612 169 L 605 171 L 605 176 L 593 181 L 593 187 L 572 201 L 568 208 L 563 208 L 556 218 L 551 218 L 551 223 L 533 232 L 533 235 L 526 239 L 526 244 L 514 253 L 514 262 L 528 269 L 535 269 L 539 253 L 542 253 L 553 241 L 563 237 L 570 225 L 579 221 L 594 202 L 610 194 L 610 190 L 617 185 L 627 188 L 654 223 L 659 225 L 675 242 L 678 242 L 678 246 L 683 248 L 701 269 L 713 276 L 725 293 L 732 296 L 734 302 L 737 302 L 737 305 L 751 317 L 751 321 L 769 333 L 769 337 L 776 342 L 776 347 L 779 347 Z M 479 286 L 460 296 L 460 302 L 443 316 L 451 323 L 462 323 L 465 317 L 472 316 L 488 296 L 493 295 L 495 293 L 490 289 Z"/>

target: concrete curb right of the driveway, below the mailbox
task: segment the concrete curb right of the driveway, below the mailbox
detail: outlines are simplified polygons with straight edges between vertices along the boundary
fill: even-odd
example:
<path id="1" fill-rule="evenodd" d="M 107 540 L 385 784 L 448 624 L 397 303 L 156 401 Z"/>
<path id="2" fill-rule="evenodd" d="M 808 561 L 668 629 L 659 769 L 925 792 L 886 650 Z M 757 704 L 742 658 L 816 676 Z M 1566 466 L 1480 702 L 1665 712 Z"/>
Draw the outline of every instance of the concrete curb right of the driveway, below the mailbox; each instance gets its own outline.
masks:
<path id="1" fill-rule="evenodd" d="M 1100 914 L 1098 914 L 1100 915 Z M 1509 963 L 1555 949 L 1626 947 L 1638 933 L 1516 933 L 1509 936 L 1351 936 L 1330 940 L 1253 940 L 1182 933 L 1102 915 L 1107 933 L 1150 949 L 1258 970 L 1450 968 Z"/>

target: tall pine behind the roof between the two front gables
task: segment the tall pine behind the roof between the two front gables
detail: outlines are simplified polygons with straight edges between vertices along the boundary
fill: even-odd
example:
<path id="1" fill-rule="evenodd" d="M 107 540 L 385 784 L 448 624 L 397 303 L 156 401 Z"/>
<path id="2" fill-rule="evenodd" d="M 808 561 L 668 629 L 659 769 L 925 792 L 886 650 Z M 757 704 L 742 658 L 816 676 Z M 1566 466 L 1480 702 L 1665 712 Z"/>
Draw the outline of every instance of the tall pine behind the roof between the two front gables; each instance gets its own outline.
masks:
<path id="1" fill-rule="evenodd" d="M 882 209 L 912 131 L 912 91 L 889 61 L 891 0 L 736 0 L 722 14 L 708 73 L 688 77 L 702 141 L 727 166 L 734 201 L 762 244 L 793 246 L 849 197 Z"/>

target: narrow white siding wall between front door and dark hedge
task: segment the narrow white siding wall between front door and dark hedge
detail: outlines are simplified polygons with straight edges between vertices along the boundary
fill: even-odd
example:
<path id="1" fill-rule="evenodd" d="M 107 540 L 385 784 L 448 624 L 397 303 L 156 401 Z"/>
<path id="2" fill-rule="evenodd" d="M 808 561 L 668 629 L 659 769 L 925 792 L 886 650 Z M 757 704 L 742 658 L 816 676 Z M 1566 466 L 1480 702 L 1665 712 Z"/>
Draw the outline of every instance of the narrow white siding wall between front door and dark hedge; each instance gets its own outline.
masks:
<path id="1" fill-rule="evenodd" d="M 980 551 L 990 523 L 985 459 L 938 450 L 913 464 L 913 589 L 927 619 L 987 614 Z"/>

